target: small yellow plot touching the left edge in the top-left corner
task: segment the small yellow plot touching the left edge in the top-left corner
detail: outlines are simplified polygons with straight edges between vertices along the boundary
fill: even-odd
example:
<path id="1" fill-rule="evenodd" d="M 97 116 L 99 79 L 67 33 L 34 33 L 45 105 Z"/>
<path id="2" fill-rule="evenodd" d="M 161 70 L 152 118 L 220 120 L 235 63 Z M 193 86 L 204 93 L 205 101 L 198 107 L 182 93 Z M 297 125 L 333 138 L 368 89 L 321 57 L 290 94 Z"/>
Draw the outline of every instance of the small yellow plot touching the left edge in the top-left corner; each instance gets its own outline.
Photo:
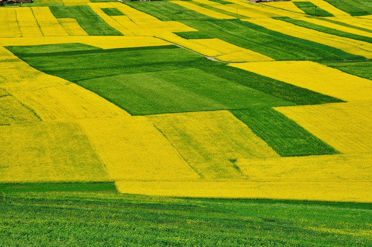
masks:
<path id="1" fill-rule="evenodd" d="M 14 8 L 0 8 L 0 23 L 0 38 L 21 36 Z"/>

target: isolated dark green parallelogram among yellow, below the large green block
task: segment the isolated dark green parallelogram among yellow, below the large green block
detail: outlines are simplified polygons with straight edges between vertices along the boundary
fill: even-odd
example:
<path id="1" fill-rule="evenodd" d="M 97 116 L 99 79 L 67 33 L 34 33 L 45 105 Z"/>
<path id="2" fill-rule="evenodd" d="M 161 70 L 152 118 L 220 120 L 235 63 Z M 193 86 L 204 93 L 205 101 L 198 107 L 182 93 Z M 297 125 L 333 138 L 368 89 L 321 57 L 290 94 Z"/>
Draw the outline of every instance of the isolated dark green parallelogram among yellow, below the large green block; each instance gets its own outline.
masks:
<path id="1" fill-rule="evenodd" d="M 307 156 L 338 154 L 295 121 L 272 108 L 231 110 L 231 113 L 246 124 L 280 156 Z"/>

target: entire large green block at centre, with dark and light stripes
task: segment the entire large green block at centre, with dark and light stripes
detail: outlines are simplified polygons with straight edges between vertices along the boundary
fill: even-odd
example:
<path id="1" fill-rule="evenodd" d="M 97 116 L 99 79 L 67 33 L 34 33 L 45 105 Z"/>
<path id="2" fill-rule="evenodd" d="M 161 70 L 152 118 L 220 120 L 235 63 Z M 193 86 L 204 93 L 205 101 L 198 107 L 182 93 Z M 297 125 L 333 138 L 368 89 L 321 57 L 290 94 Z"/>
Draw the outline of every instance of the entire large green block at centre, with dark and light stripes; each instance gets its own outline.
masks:
<path id="1" fill-rule="evenodd" d="M 81 51 L 76 51 L 79 47 Z M 89 49 L 7 47 L 36 69 L 75 82 L 132 115 L 342 102 L 174 45 Z M 65 51 L 63 51 L 65 49 Z M 32 50 L 32 54 L 27 51 Z M 49 51 L 58 51 L 50 53 Z"/>

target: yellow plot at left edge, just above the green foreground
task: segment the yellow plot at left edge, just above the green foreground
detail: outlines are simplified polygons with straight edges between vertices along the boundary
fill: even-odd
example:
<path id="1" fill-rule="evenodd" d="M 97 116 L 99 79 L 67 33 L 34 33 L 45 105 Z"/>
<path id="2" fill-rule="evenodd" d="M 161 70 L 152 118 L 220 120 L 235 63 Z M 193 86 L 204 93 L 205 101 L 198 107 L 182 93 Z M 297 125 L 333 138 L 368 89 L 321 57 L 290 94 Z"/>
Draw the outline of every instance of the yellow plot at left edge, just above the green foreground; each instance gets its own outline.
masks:
<path id="1" fill-rule="evenodd" d="M 1 183 L 111 180 L 77 124 L 0 126 L 0 136 Z"/>

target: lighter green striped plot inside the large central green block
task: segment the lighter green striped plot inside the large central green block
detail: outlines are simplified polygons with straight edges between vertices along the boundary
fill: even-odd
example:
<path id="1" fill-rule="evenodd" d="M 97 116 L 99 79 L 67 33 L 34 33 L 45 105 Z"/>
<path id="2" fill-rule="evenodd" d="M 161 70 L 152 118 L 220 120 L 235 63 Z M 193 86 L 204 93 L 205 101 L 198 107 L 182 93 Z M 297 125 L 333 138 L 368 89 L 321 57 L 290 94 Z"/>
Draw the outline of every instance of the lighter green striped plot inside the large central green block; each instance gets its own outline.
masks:
<path id="1" fill-rule="evenodd" d="M 292 104 L 199 69 L 117 75 L 77 84 L 132 115 Z"/>

